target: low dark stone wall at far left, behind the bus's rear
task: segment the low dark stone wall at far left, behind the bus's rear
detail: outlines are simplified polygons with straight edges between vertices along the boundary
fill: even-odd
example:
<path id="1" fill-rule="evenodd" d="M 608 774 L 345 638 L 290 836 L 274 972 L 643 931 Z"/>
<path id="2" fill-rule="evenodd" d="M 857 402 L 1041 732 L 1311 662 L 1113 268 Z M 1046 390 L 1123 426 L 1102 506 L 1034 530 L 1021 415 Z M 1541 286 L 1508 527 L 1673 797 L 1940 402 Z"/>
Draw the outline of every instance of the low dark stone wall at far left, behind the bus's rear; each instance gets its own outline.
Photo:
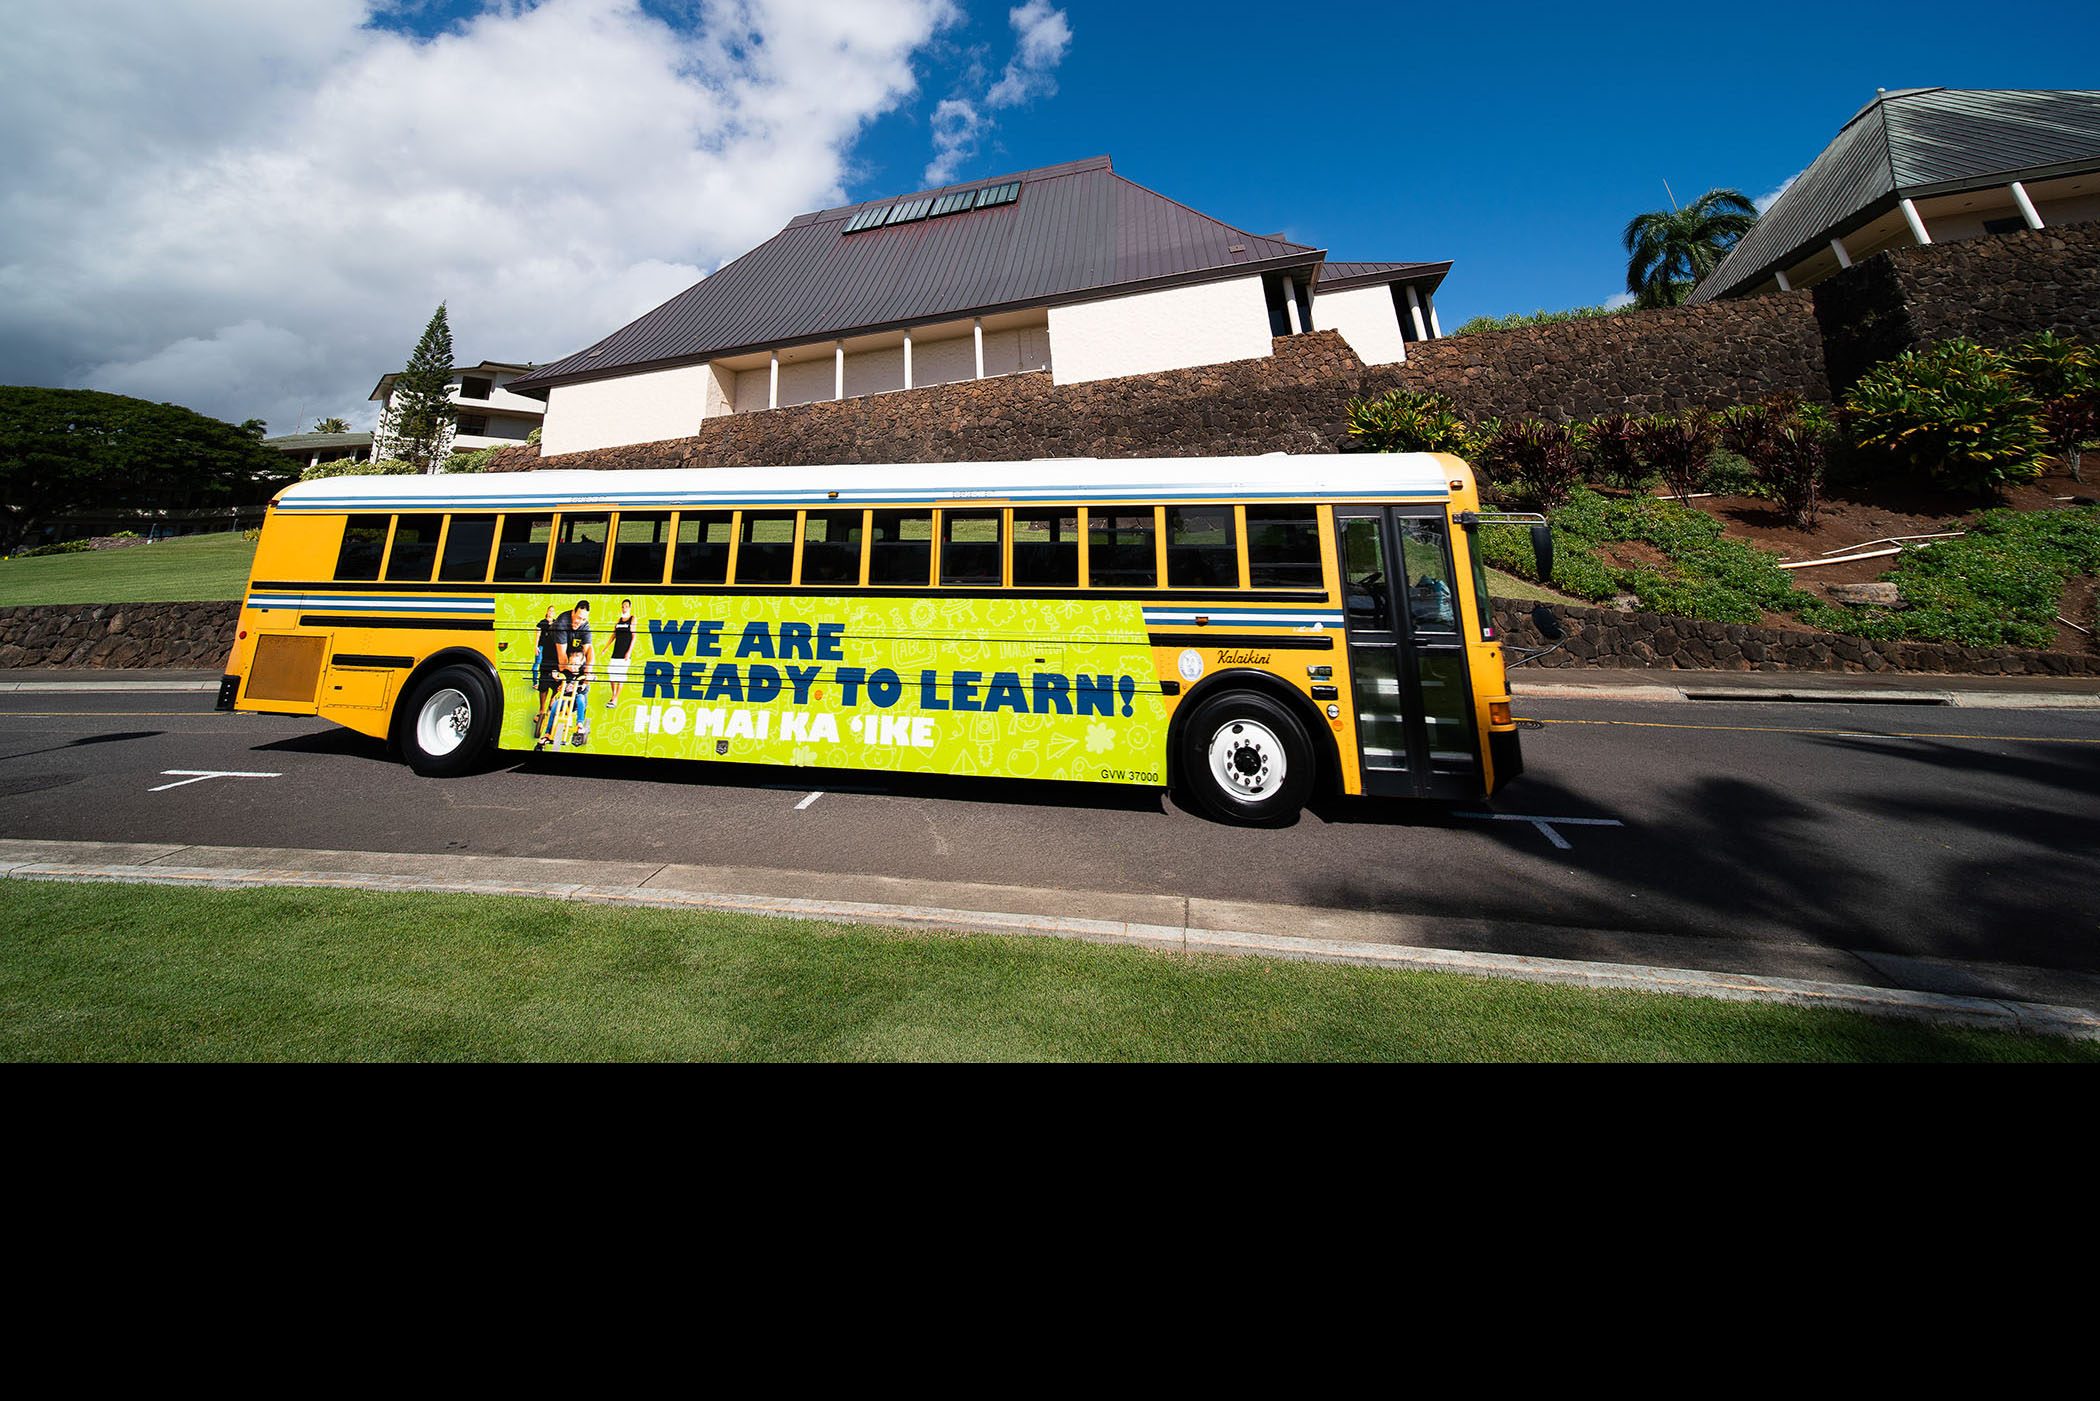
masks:
<path id="1" fill-rule="evenodd" d="M 52 603 L 0 607 L 0 668 L 218 670 L 239 603 Z"/>

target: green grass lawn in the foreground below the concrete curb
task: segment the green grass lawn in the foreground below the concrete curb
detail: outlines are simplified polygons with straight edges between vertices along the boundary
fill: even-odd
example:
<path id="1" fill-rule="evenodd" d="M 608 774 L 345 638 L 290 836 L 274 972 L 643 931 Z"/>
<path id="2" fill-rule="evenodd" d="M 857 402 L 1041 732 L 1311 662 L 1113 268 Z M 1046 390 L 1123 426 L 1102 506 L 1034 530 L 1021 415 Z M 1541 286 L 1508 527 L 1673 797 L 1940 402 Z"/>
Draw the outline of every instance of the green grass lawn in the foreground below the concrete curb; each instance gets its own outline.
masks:
<path id="1" fill-rule="evenodd" d="M 1436 973 L 363 891 L 8 882 L 8 1061 L 2100 1061 Z"/>

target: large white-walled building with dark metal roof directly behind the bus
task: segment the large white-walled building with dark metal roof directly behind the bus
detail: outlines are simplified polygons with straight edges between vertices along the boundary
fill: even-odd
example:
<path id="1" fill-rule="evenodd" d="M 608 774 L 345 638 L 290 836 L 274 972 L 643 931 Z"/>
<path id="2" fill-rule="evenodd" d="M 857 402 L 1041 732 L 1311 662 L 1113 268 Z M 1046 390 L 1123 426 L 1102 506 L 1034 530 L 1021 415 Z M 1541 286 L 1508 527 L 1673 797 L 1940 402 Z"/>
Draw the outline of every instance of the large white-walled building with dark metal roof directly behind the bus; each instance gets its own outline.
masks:
<path id="1" fill-rule="evenodd" d="M 546 401 L 552 456 L 998 374 L 1069 384 L 1254 359 L 1302 330 L 1340 330 L 1365 361 L 1390 363 L 1436 334 L 1449 263 L 1325 258 L 1199 214 L 1096 155 L 798 214 L 506 389 Z"/>

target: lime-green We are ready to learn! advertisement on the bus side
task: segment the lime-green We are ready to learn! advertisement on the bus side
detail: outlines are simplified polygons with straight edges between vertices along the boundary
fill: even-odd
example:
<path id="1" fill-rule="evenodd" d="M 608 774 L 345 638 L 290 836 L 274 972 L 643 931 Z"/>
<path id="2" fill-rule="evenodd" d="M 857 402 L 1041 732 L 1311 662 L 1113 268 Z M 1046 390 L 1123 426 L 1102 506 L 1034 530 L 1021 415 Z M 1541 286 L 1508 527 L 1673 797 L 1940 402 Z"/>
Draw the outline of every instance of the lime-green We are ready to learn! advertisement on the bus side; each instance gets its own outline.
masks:
<path id="1" fill-rule="evenodd" d="M 615 657 L 622 599 L 628 655 Z M 590 605 L 588 681 L 546 691 L 542 639 Z M 544 628 L 542 628 L 544 624 Z M 502 748 L 542 695 L 561 748 L 638 758 L 1166 781 L 1166 702 L 1138 603 L 802 594 L 500 594 Z M 548 649 L 550 651 L 550 649 Z"/>

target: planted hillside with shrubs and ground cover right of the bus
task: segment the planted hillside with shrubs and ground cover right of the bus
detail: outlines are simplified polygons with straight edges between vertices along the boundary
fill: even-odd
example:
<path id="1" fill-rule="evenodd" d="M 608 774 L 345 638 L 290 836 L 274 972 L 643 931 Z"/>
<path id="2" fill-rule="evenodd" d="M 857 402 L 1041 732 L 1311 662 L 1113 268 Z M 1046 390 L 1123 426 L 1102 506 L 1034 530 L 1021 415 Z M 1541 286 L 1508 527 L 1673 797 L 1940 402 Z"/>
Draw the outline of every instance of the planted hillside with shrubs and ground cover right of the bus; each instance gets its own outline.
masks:
<path id="1" fill-rule="evenodd" d="M 2096 653 L 2100 508 L 2081 479 L 2096 412 L 2092 351 L 2043 334 L 1900 355 L 1835 407 L 1466 422 L 1438 395 L 1394 391 L 1350 405 L 1350 437 L 1457 452 L 1493 506 L 1544 510 L 1569 603 Z M 1487 527 L 1485 544 L 1531 580 L 1520 529 Z"/>

